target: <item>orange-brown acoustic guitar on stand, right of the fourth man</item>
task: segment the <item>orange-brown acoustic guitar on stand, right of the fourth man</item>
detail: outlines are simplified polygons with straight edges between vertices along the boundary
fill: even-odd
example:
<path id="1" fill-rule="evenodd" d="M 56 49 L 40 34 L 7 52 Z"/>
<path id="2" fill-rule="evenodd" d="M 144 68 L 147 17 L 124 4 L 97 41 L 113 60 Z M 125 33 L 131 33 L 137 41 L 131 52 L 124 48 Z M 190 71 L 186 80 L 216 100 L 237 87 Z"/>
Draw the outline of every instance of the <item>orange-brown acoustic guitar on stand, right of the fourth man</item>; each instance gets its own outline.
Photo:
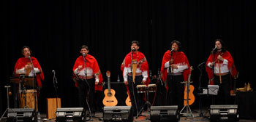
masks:
<path id="1" fill-rule="evenodd" d="M 190 74 L 189 74 L 189 78 L 187 79 L 188 82 L 188 86 L 189 86 L 189 92 L 187 94 L 187 84 L 185 86 L 185 90 L 184 90 L 184 105 L 187 105 L 187 95 L 189 95 L 189 105 L 192 105 L 195 102 L 195 95 L 193 94 L 193 91 L 195 89 L 195 87 L 193 85 L 190 85 L 191 83 L 191 72 L 193 70 L 193 67 L 190 67 Z"/>

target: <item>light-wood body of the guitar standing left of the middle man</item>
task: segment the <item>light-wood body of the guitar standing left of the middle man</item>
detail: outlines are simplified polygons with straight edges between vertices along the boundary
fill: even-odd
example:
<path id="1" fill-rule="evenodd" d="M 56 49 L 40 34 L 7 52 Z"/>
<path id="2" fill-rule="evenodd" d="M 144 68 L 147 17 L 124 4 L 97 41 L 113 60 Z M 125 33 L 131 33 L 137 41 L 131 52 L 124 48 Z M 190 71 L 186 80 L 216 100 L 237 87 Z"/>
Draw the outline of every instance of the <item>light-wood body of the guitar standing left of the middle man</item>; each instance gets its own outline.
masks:
<path id="1" fill-rule="evenodd" d="M 105 97 L 103 99 L 103 105 L 105 106 L 116 106 L 117 99 L 115 97 L 116 91 L 114 89 L 110 89 L 110 94 L 108 93 L 108 89 L 104 91 Z"/>

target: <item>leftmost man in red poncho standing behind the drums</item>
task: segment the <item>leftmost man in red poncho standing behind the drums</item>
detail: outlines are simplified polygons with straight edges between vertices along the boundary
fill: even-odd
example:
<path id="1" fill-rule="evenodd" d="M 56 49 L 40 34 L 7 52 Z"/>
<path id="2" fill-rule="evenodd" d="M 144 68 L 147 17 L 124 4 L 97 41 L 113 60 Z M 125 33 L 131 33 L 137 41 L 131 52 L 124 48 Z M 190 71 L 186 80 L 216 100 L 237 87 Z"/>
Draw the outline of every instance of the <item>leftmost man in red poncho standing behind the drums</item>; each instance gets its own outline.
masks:
<path id="1" fill-rule="evenodd" d="M 13 70 L 14 76 L 17 76 L 25 81 L 25 78 L 27 79 L 34 79 L 37 82 L 29 83 L 31 81 L 26 81 L 26 89 L 38 89 L 37 94 L 39 94 L 39 89 L 42 88 L 42 82 L 45 79 L 44 74 L 42 73 L 42 68 L 39 65 L 39 62 L 37 61 L 37 58 L 31 57 L 31 50 L 29 46 L 23 46 L 23 49 L 21 50 L 21 53 L 24 57 L 20 57 L 16 64 L 15 68 Z M 33 69 L 34 67 L 34 69 Z M 34 77 L 34 75 L 36 75 Z M 21 77 L 23 76 L 23 77 Z M 21 86 L 23 86 L 21 84 Z M 20 88 L 21 90 L 23 88 Z M 15 95 L 16 96 L 16 95 Z M 36 99 L 37 100 L 37 99 Z"/>

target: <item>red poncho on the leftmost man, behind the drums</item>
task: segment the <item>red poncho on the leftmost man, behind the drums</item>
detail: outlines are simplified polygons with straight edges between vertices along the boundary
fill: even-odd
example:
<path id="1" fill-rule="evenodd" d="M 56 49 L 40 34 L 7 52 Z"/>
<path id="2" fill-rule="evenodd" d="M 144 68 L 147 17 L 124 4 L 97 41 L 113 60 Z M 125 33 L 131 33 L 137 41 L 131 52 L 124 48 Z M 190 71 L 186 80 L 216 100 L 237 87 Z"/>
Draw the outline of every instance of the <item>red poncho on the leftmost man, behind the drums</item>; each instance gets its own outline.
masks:
<path id="1" fill-rule="evenodd" d="M 42 82 L 45 79 L 44 73 L 42 73 L 42 68 L 39 65 L 39 62 L 37 61 L 37 59 L 35 57 L 31 57 L 31 60 L 33 62 L 34 68 L 38 68 L 40 70 L 40 73 L 37 73 L 37 85 L 39 87 L 42 87 Z M 14 74 L 15 76 L 18 76 L 18 74 L 16 74 L 16 70 L 19 70 L 21 68 L 25 68 L 25 65 L 27 65 L 28 63 L 30 63 L 29 58 L 26 57 L 20 57 L 16 64 L 15 64 L 15 68 L 14 68 Z"/>

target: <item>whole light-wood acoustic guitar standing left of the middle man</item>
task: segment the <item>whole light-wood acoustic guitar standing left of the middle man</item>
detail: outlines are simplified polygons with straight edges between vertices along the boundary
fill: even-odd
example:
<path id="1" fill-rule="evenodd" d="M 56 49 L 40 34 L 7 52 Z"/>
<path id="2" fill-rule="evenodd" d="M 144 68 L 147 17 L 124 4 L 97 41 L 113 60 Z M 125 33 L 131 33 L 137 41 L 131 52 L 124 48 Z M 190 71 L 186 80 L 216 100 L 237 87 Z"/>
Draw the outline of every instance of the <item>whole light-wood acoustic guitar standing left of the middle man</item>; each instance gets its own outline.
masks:
<path id="1" fill-rule="evenodd" d="M 108 77 L 108 89 L 105 89 L 104 94 L 105 97 L 103 99 L 103 105 L 105 106 L 116 106 L 117 105 L 117 99 L 115 97 L 116 91 L 114 89 L 110 88 L 110 71 L 108 70 L 106 73 Z"/>

